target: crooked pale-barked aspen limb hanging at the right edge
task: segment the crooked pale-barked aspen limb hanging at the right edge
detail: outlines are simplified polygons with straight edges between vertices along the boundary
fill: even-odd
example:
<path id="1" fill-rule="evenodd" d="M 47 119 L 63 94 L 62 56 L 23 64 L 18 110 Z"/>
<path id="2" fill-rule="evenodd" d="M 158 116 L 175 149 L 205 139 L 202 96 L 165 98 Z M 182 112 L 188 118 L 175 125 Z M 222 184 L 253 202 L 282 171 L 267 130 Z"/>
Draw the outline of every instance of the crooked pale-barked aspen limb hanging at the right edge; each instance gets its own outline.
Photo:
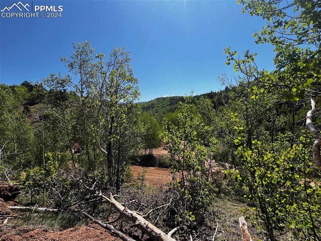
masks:
<path id="1" fill-rule="evenodd" d="M 307 113 L 306 125 L 308 126 L 308 129 L 309 129 L 312 137 L 315 139 L 315 141 L 312 145 L 313 161 L 316 164 L 317 168 L 319 168 L 321 170 L 321 156 L 320 156 L 321 138 L 319 135 L 319 131 L 312 124 L 313 115 L 316 113 L 316 111 L 317 111 L 316 100 L 314 98 L 311 98 L 311 110 L 309 110 Z"/>

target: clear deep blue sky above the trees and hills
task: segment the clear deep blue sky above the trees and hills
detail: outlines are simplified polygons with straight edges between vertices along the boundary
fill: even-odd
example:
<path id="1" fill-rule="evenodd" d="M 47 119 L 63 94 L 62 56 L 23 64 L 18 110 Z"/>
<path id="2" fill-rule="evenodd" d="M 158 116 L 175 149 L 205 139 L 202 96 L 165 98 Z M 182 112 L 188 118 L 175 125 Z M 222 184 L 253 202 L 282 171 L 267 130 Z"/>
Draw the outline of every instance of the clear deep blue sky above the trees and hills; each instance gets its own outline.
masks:
<path id="1" fill-rule="evenodd" d="M 0 7 L 18 1 L 0 1 Z M 31 1 L 23 1 L 31 6 Z M 63 5 L 61 18 L 1 18 L 0 82 L 35 82 L 67 73 L 61 56 L 72 42 L 90 41 L 97 52 L 131 51 L 141 101 L 216 91 L 216 77 L 234 74 L 223 49 L 256 52 L 260 68 L 273 70 L 273 48 L 252 34 L 265 22 L 242 14 L 236 1 L 33 1 Z"/>

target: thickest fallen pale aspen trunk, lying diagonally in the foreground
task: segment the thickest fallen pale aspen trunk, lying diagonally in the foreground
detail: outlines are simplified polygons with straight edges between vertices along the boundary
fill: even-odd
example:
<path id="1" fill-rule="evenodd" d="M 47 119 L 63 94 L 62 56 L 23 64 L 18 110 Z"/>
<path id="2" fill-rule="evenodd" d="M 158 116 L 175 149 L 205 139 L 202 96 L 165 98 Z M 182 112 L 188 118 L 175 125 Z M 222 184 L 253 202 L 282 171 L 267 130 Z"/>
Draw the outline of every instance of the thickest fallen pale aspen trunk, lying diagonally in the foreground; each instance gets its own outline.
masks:
<path id="1" fill-rule="evenodd" d="M 109 194 L 109 198 L 102 195 L 101 193 L 99 194 L 99 196 L 110 203 L 111 206 L 120 213 L 121 217 L 126 218 L 128 221 L 134 223 L 136 227 L 138 227 L 143 233 L 147 234 L 153 240 L 175 241 L 175 239 L 162 232 L 159 228 L 152 225 L 142 216 L 138 215 L 136 211 L 131 211 L 128 208 L 124 207 L 121 203 L 117 202 L 111 193 Z"/>

